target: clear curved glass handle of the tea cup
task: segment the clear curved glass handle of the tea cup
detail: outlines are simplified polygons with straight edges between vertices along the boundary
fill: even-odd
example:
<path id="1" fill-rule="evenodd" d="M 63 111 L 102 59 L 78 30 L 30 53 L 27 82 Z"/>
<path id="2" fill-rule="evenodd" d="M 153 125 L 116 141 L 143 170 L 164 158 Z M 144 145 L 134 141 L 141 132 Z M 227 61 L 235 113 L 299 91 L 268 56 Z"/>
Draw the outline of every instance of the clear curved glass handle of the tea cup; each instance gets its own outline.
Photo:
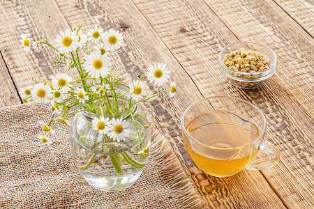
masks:
<path id="1" fill-rule="evenodd" d="M 271 160 L 265 160 L 260 162 L 253 161 L 251 164 L 246 167 L 249 170 L 262 170 L 262 169 L 270 169 L 274 167 L 279 161 L 279 151 L 278 149 L 271 143 L 264 141 L 259 150 L 263 150 L 264 152 L 269 153 L 271 155 Z"/>

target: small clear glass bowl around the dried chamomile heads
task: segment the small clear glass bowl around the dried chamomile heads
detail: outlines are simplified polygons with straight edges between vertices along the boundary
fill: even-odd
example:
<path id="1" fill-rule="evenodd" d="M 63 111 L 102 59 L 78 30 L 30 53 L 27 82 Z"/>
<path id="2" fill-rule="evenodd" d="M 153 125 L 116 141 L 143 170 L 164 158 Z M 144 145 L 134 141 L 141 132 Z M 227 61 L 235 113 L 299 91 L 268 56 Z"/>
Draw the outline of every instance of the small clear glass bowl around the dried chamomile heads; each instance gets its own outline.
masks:
<path id="1" fill-rule="evenodd" d="M 271 66 L 259 72 L 240 72 L 228 68 L 223 63 L 223 56 L 239 49 L 251 49 L 252 51 L 260 52 L 260 54 L 264 55 L 266 59 L 271 60 Z M 271 75 L 274 74 L 276 70 L 276 62 L 277 57 L 273 50 L 257 42 L 234 42 L 231 45 L 227 45 L 227 47 L 223 48 L 218 56 L 219 69 L 221 72 L 223 72 L 223 75 L 227 77 L 228 81 L 233 86 L 244 89 L 257 88 L 258 86 L 262 85 L 264 80 L 268 79 L 271 77 Z"/>

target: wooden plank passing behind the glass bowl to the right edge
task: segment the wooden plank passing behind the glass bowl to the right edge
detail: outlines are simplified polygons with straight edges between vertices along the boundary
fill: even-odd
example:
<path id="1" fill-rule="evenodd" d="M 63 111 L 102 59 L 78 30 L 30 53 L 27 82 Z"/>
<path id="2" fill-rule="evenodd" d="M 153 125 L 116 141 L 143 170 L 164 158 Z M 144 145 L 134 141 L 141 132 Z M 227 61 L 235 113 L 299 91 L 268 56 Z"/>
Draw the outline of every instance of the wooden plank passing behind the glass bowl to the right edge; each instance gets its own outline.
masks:
<path id="1" fill-rule="evenodd" d="M 274 80 L 313 119 L 313 38 L 274 1 L 204 1 L 239 40 L 274 49 L 278 56 Z"/>

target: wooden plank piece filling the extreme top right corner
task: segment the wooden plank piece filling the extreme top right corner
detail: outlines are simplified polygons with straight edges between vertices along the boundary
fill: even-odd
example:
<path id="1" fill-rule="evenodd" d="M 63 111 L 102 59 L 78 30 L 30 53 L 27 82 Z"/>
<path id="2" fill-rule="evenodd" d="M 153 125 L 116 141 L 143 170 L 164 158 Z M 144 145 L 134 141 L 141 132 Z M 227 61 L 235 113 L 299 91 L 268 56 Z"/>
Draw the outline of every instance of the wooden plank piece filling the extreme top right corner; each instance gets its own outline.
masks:
<path id="1" fill-rule="evenodd" d="M 314 1 L 274 0 L 278 6 L 314 36 Z"/>

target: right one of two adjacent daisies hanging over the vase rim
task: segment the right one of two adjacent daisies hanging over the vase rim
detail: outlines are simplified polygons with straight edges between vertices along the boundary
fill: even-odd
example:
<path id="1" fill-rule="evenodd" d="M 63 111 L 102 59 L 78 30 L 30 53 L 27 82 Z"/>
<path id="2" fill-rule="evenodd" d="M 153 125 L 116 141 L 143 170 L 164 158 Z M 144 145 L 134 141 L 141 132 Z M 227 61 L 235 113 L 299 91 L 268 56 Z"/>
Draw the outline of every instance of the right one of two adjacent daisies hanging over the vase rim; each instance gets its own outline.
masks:
<path id="1" fill-rule="evenodd" d="M 120 142 L 120 140 L 126 139 L 130 130 L 126 128 L 130 126 L 128 121 L 122 121 L 123 118 L 112 118 L 109 125 L 108 136 L 111 137 L 114 141 Z"/>

